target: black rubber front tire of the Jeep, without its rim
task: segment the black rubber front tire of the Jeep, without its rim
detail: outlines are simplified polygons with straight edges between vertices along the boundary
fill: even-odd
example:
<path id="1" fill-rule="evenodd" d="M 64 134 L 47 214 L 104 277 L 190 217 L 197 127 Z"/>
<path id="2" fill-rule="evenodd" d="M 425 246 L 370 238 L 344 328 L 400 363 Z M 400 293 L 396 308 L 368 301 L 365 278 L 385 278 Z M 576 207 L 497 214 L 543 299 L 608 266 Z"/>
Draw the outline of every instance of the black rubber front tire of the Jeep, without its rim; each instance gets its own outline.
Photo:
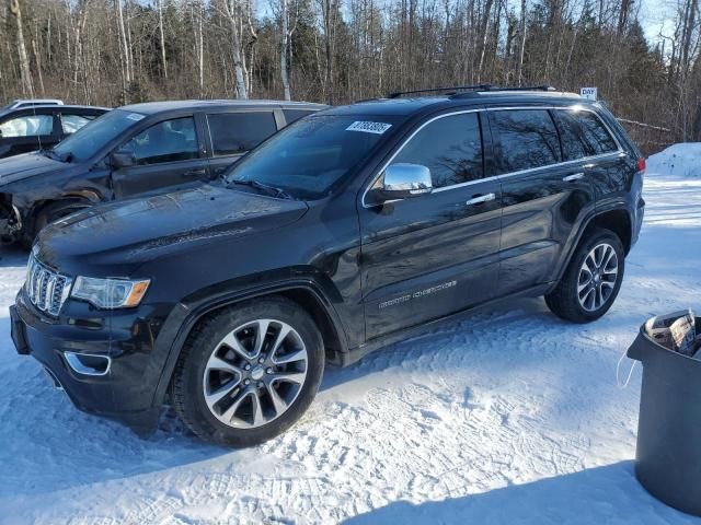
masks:
<path id="1" fill-rule="evenodd" d="M 256 319 L 276 319 L 296 330 L 307 350 L 306 377 L 297 397 L 281 416 L 276 416 L 276 419 L 261 427 L 234 428 L 220 421 L 205 401 L 205 372 L 210 357 L 220 352 L 216 349 L 222 348 L 220 342 L 223 338 L 238 327 Z M 273 353 L 274 350 L 271 351 L 271 354 Z M 239 357 L 235 353 L 233 355 Z M 177 416 L 199 438 L 226 446 L 253 446 L 285 432 L 299 420 L 317 395 L 323 370 L 323 340 L 310 315 L 292 301 L 277 296 L 267 298 L 220 311 L 205 318 L 193 329 L 173 373 L 171 397 Z M 256 395 L 258 402 L 267 390 L 261 388 L 260 392 L 263 394 Z"/>

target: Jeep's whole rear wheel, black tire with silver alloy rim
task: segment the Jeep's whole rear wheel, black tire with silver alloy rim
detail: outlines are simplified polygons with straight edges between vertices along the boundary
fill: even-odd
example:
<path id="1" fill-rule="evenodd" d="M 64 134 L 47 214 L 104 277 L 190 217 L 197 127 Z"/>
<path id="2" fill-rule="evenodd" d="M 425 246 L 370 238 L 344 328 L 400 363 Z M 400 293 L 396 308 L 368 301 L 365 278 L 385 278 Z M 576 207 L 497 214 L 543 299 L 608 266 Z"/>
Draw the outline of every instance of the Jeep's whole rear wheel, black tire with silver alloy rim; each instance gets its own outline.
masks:
<path id="1" fill-rule="evenodd" d="M 598 319 L 613 304 L 621 288 L 625 252 L 618 236 L 601 228 L 577 246 L 558 287 L 548 295 L 548 307 L 574 323 Z"/>

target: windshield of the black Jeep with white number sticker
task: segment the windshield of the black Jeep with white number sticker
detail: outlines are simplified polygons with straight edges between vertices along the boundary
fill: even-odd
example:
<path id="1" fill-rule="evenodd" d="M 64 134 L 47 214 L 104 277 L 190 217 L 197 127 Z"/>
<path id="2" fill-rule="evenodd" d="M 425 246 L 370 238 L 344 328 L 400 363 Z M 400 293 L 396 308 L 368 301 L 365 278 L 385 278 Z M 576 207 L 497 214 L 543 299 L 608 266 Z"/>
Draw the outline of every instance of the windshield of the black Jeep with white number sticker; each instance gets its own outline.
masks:
<path id="1" fill-rule="evenodd" d="M 318 199 L 366 159 L 395 121 L 395 117 L 386 116 L 309 117 L 285 128 L 234 164 L 227 182 L 255 182 L 296 198 Z"/>

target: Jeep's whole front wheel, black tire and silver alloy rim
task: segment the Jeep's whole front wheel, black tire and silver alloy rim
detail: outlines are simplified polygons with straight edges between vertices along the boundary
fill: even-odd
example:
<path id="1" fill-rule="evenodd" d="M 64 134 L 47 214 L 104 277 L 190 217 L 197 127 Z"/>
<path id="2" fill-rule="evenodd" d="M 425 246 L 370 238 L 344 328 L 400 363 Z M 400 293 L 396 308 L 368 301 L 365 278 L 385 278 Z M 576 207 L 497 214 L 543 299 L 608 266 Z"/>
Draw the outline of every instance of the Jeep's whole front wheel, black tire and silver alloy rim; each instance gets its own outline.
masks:
<path id="1" fill-rule="evenodd" d="M 321 335 L 299 305 L 283 298 L 256 301 L 193 330 L 173 377 L 173 405 L 200 438 L 255 445 L 302 416 L 323 366 Z"/>

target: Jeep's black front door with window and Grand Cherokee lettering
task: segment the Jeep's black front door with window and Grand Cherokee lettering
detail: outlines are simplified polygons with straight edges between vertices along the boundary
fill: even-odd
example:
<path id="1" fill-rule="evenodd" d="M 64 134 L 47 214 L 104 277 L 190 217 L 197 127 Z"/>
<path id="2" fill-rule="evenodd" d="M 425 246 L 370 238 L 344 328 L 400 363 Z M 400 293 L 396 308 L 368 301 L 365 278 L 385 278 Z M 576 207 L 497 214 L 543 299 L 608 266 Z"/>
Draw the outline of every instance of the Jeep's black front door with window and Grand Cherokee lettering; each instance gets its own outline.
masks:
<path id="1" fill-rule="evenodd" d="M 502 191 L 496 178 L 485 177 L 482 118 L 479 112 L 436 117 L 388 163 L 428 167 L 432 194 L 375 206 L 364 200 L 359 208 L 368 339 L 494 295 Z"/>

